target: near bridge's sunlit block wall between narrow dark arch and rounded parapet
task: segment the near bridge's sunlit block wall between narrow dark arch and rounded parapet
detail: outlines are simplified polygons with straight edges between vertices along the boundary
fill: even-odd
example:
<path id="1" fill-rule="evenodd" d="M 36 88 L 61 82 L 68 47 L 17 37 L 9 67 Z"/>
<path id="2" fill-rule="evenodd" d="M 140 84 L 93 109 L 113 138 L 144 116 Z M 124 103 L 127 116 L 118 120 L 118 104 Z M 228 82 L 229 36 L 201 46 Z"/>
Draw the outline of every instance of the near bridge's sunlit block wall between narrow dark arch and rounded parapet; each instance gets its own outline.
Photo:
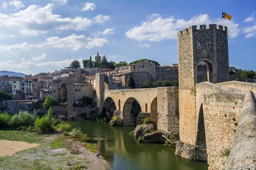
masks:
<path id="1" fill-rule="evenodd" d="M 203 107 L 208 169 L 224 170 L 227 157 L 222 157 L 221 152 L 224 148 L 231 148 L 245 91 L 222 87 L 210 82 L 199 83 L 195 87 L 197 112 L 201 104 Z"/>

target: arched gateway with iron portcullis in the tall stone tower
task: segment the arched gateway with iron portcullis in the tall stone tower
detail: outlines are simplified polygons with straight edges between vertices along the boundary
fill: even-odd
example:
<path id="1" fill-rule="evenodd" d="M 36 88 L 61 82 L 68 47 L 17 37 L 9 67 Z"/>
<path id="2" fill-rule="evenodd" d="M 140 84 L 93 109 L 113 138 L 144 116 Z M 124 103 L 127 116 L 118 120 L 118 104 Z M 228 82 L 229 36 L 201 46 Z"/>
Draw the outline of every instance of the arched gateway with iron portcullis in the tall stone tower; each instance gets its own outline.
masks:
<path id="1" fill-rule="evenodd" d="M 195 80 L 197 83 L 200 82 L 215 82 L 214 73 L 216 68 L 213 62 L 207 58 L 203 58 L 196 64 L 196 76 Z"/>

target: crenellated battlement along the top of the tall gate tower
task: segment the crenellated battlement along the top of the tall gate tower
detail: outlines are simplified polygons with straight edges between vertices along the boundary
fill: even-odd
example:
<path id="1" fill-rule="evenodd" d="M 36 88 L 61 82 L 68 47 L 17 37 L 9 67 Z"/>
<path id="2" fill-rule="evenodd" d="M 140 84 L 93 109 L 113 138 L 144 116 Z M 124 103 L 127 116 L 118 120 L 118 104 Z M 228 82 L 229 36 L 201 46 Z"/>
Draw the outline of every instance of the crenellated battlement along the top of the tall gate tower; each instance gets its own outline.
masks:
<path id="1" fill-rule="evenodd" d="M 217 25 L 217 24 L 209 24 L 209 29 L 207 29 L 206 25 L 200 25 L 200 29 L 197 29 L 197 26 L 193 25 L 193 26 L 189 26 L 189 28 L 183 29 L 182 31 L 178 31 L 178 35 L 182 35 L 182 34 L 190 32 L 190 31 L 210 30 L 210 29 L 227 31 L 227 26 L 222 26 L 222 25 Z"/>

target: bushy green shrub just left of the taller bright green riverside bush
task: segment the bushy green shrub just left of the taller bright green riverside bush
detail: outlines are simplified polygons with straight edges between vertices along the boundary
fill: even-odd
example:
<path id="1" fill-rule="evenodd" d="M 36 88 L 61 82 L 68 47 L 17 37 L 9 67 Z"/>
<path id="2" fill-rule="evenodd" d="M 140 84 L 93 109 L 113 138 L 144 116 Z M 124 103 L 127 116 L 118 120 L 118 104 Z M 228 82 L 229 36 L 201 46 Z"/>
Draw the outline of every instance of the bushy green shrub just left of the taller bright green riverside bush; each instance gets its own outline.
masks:
<path id="1" fill-rule="evenodd" d="M 13 115 L 10 120 L 10 126 L 13 128 L 20 128 L 22 126 L 34 126 L 36 113 L 29 113 L 27 111 L 20 111 L 18 115 Z M 23 127 L 23 128 L 24 128 Z"/>

